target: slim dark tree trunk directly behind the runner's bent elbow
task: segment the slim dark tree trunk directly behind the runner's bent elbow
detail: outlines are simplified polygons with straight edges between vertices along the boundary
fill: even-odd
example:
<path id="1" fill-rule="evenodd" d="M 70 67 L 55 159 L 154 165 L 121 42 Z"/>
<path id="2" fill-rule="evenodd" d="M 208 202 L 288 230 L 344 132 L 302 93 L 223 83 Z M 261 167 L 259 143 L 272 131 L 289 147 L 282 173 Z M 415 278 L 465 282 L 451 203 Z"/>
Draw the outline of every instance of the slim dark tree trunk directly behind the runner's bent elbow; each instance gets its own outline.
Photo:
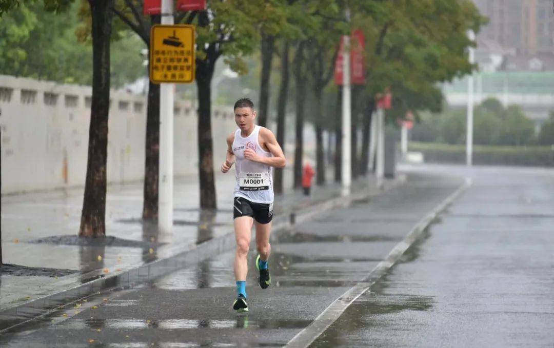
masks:
<path id="1" fill-rule="evenodd" d="M 283 44 L 281 55 L 281 86 L 279 89 L 279 100 L 277 101 L 277 142 L 285 150 L 285 118 L 286 118 L 286 96 L 289 92 L 289 41 Z M 275 168 L 275 194 L 283 193 L 283 168 Z"/>

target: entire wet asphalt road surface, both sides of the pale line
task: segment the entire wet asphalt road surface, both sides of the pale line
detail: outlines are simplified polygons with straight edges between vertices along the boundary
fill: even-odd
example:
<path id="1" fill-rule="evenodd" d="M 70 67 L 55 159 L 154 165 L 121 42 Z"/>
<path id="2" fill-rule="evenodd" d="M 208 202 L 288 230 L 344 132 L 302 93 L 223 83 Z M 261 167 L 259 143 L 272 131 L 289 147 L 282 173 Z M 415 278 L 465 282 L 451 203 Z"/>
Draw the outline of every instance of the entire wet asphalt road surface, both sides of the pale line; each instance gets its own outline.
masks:
<path id="1" fill-rule="evenodd" d="M 554 176 L 429 168 L 407 168 L 406 185 L 275 235 L 274 285 L 255 287 L 250 272 L 248 315 L 230 310 L 229 252 L 19 326 L 0 345 L 285 345 L 458 188 L 455 172 L 474 185 L 312 346 L 552 346 Z"/>

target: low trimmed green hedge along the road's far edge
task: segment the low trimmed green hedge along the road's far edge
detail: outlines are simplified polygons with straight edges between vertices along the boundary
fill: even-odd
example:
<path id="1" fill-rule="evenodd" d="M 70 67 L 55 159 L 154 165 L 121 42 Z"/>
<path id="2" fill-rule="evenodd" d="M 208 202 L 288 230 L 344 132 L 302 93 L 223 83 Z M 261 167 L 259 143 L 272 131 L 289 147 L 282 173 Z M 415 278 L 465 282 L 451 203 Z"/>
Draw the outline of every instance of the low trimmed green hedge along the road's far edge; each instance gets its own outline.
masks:
<path id="1" fill-rule="evenodd" d="M 408 143 L 408 150 L 422 152 L 428 163 L 465 163 L 465 145 Z M 554 148 L 546 146 L 474 146 L 473 163 L 554 167 Z"/>

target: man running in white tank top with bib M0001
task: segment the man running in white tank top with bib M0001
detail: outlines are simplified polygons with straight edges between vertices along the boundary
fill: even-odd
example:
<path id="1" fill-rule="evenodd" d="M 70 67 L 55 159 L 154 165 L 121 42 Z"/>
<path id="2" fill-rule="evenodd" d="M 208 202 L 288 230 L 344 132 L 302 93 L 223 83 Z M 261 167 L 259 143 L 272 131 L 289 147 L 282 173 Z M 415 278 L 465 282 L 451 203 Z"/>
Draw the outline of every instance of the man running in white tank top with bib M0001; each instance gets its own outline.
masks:
<path id="1" fill-rule="evenodd" d="M 274 134 L 267 128 L 256 126 L 254 103 L 248 98 L 239 99 L 234 106 L 237 129 L 227 137 L 227 157 L 221 171 L 227 173 L 235 159 L 237 185 L 233 200 L 233 217 L 237 252 L 234 271 L 237 281 L 237 299 L 233 309 L 248 311 L 246 303 L 246 276 L 250 231 L 256 227 L 258 257 L 256 268 L 260 272 L 259 284 L 266 289 L 271 284 L 268 259 L 271 252 L 269 233 L 273 219 L 273 168 L 285 167 L 285 155 Z"/>

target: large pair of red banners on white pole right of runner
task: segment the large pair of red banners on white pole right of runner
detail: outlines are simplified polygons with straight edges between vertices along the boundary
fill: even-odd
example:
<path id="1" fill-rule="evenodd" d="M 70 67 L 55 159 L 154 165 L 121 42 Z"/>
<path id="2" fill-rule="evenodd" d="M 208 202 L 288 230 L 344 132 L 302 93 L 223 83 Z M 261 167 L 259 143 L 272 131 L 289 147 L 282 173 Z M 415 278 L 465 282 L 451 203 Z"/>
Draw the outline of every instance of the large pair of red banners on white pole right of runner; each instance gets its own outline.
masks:
<path id="1" fill-rule="evenodd" d="M 363 60 L 365 47 L 366 43 L 362 30 L 354 30 L 350 39 L 350 82 L 353 85 L 363 85 L 366 83 L 366 67 Z M 343 51 L 344 37 L 341 37 L 340 48 L 338 49 L 337 60 L 335 61 L 335 84 L 339 86 L 342 86 Z"/>

